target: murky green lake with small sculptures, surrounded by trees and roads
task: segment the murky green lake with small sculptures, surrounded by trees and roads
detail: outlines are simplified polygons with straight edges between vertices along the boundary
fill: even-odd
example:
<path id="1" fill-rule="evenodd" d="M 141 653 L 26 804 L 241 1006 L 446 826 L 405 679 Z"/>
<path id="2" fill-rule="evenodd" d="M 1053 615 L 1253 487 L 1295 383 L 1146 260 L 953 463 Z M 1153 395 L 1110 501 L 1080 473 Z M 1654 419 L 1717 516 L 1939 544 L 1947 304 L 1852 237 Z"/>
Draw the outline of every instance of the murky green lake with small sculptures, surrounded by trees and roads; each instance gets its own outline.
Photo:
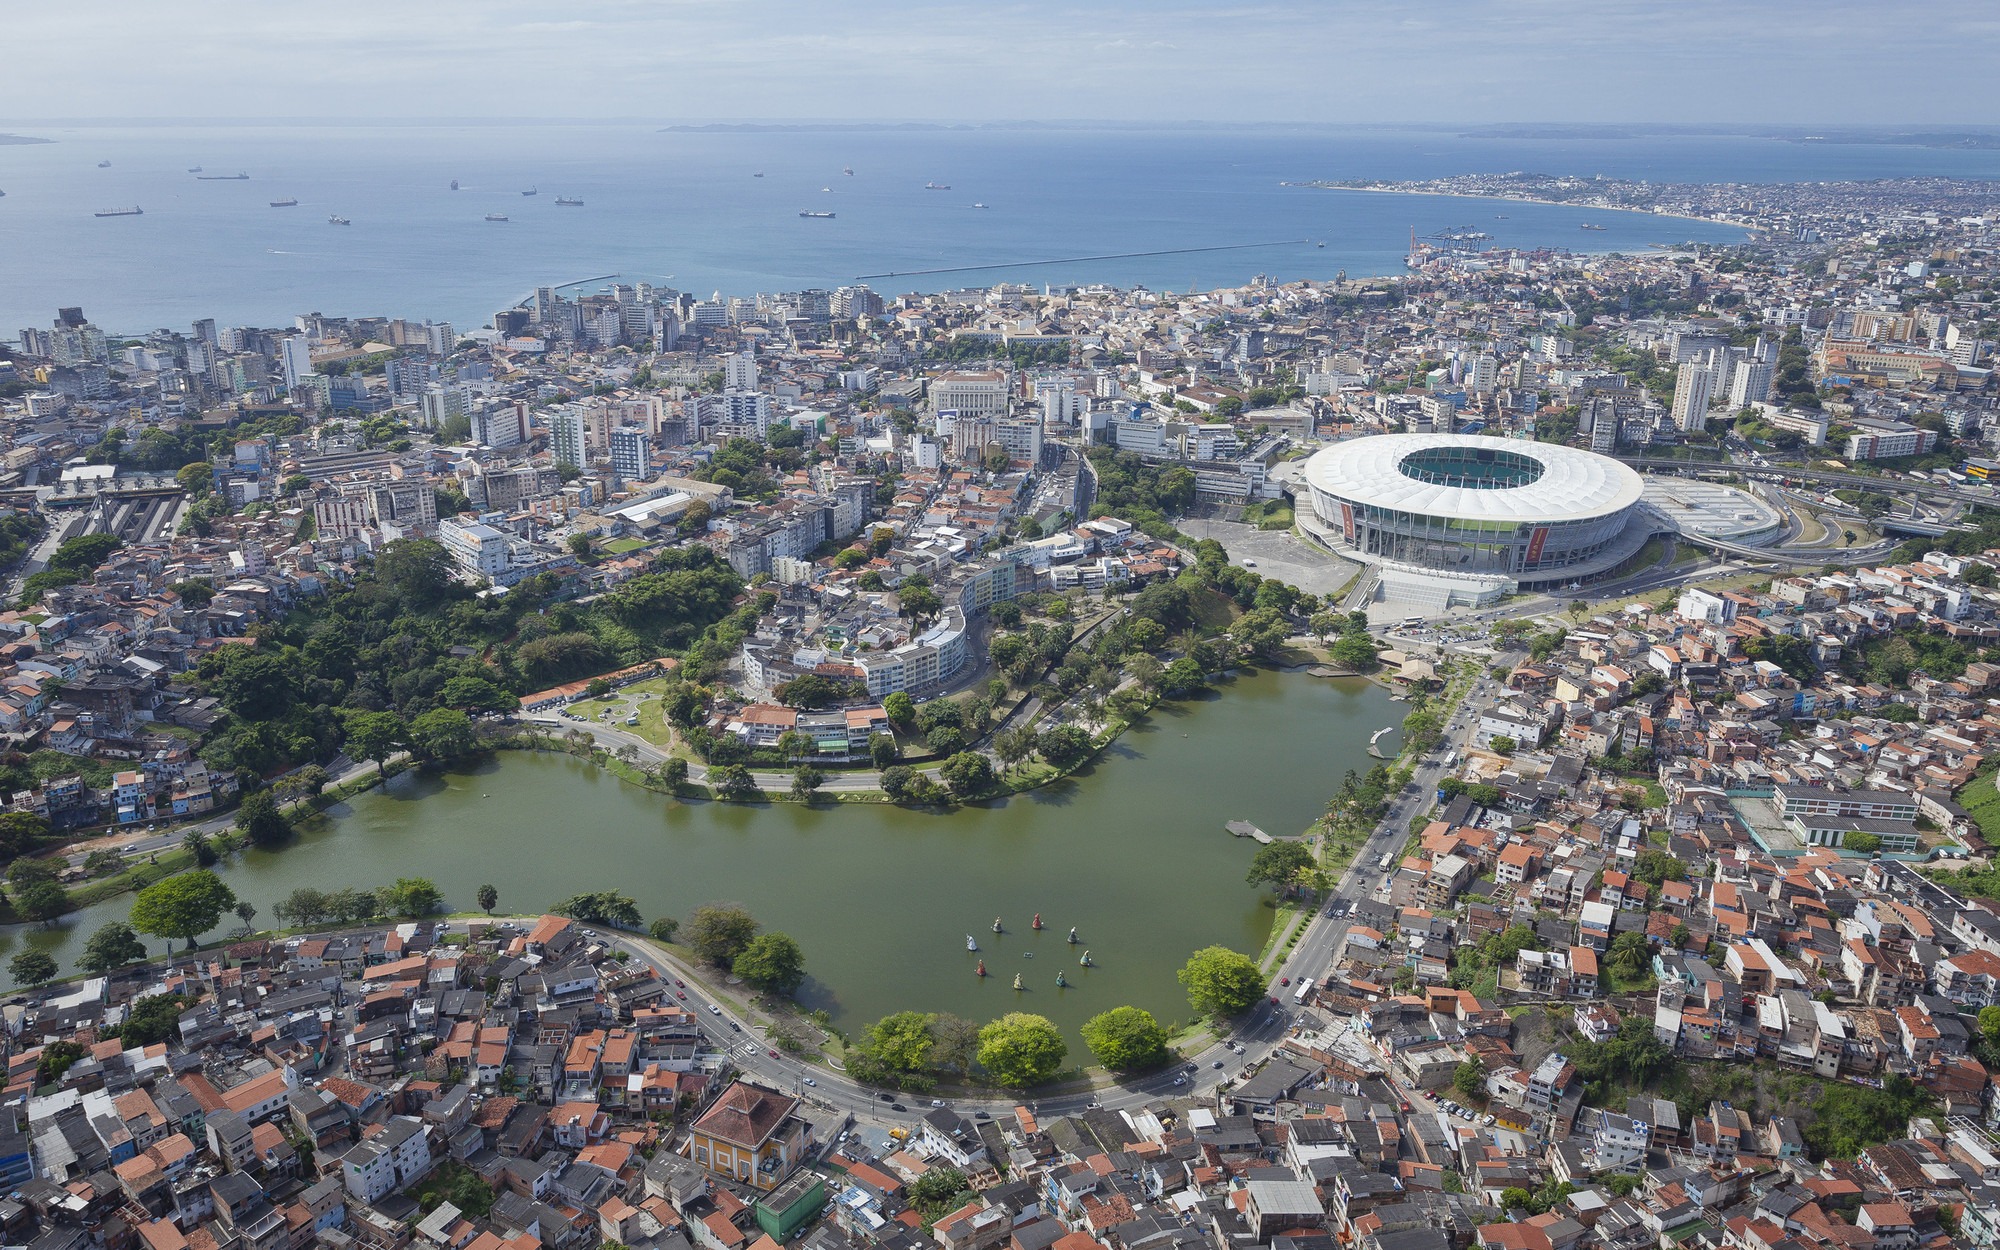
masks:
<path id="1" fill-rule="evenodd" d="M 1074 778 L 952 812 L 686 804 L 568 756 L 502 752 L 394 778 L 310 822 L 296 844 L 218 870 L 262 922 L 298 886 L 398 876 L 436 880 L 456 910 L 474 906 L 480 882 L 500 890 L 504 912 L 582 890 L 630 894 L 648 918 L 740 902 L 798 938 L 810 970 L 800 1000 L 842 1028 L 904 1008 L 974 1020 L 1032 1010 L 1074 1044 L 1082 1020 L 1128 1002 L 1184 1018 L 1174 970 L 1188 952 L 1262 948 L 1268 890 L 1244 884 L 1256 844 L 1222 824 L 1304 830 L 1348 768 L 1372 764 L 1368 736 L 1402 714 L 1366 682 L 1258 672 L 1162 706 Z M 0 958 L 26 942 L 70 972 L 84 938 L 128 912 L 122 896 L 54 930 L 16 926 L 0 934 Z M 1006 934 L 992 932 L 994 916 Z M 1066 944 L 1072 924 L 1080 948 Z M 966 934 L 980 954 L 966 952 Z M 1082 948 L 1094 968 L 1078 966 Z M 980 958 L 986 980 L 974 976 Z M 1024 992 L 1012 990 L 1016 972 Z M 1070 988 L 1056 988 L 1056 972 Z"/>

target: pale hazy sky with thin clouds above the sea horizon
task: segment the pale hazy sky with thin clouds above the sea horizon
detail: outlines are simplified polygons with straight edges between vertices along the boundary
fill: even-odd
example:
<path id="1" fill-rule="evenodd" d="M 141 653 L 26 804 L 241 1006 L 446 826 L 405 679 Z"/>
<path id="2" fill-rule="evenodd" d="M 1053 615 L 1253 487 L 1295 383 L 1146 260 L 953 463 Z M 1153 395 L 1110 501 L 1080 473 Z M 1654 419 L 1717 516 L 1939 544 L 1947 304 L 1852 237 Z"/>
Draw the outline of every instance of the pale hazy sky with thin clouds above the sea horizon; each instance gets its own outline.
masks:
<path id="1" fill-rule="evenodd" d="M 2000 122 L 2000 4 L 88 0 L 14 6 L 0 122 Z"/>

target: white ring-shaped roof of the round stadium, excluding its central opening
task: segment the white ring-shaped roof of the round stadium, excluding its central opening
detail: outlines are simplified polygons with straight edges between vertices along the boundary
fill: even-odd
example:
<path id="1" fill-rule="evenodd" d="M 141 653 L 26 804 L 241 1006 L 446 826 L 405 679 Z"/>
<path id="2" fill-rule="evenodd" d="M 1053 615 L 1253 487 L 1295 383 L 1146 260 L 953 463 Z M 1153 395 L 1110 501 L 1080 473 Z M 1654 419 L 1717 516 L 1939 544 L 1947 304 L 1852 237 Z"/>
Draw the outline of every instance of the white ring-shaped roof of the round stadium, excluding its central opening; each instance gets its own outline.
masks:
<path id="1" fill-rule="evenodd" d="M 1406 476 L 1412 452 L 1476 448 L 1524 456 L 1542 476 L 1524 486 L 1442 486 Z M 1338 442 L 1306 462 L 1306 482 L 1354 504 L 1464 520 L 1558 522 L 1608 516 L 1640 500 L 1644 480 L 1628 466 L 1552 442 L 1484 434 L 1374 434 Z"/>

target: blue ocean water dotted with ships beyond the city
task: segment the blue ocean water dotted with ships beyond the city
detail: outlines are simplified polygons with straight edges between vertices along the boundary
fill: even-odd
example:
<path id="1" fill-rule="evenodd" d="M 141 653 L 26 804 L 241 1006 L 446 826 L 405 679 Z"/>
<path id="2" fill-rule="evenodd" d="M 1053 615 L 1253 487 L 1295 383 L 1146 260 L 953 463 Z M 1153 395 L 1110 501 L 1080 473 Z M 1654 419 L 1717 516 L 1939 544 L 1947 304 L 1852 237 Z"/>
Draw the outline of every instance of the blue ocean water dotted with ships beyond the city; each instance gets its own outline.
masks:
<path id="1" fill-rule="evenodd" d="M 1726 136 L 670 132 L 638 124 L 0 122 L 0 130 L 56 140 L 0 146 L 0 336 L 46 326 L 70 304 L 120 334 L 184 330 L 200 316 L 286 324 L 312 310 L 466 328 L 490 324 L 496 308 L 538 284 L 610 274 L 698 294 L 830 288 L 866 274 L 894 274 L 868 278 L 890 296 L 1000 280 L 1184 292 L 1252 274 L 1398 272 L 1412 230 L 1474 228 L 1496 246 L 1598 252 L 1744 238 L 1650 214 L 1328 192 L 1284 180 L 1498 170 L 1652 180 L 2000 176 L 2000 152 Z M 110 166 L 98 168 L 100 160 Z M 190 166 L 242 170 L 250 180 L 198 182 Z M 844 166 L 854 174 L 842 174 Z M 926 182 L 950 190 L 926 190 Z M 526 188 L 538 194 L 522 196 Z M 558 196 L 584 204 L 558 206 Z M 280 198 L 298 206 L 268 206 Z M 144 216 L 92 216 L 124 206 Z M 836 216 L 800 218 L 802 210 Z M 490 212 L 510 220 L 486 222 Z M 330 214 L 352 224 L 334 226 Z M 1586 232 L 1580 222 L 1606 230 Z M 956 272 L 914 272 L 946 268 Z"/>

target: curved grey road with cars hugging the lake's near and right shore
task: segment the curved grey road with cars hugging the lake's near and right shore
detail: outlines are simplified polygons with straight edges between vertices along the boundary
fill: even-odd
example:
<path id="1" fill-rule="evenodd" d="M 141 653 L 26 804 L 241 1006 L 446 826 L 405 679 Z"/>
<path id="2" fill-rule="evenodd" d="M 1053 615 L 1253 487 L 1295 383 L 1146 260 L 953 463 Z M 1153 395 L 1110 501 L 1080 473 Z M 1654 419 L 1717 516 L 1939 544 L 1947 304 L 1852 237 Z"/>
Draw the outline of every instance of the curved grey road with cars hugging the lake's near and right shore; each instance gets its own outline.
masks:
<path id="1" fill-rule="evenodd" d="M 1334 948 L 1348 928 L 1344 916 L 1356 902 L 1374 892 L 1374 882 L 1382 876 L 1382 856 L 1402 850 L 1410 840 L 1410 818 L 1432 802 L 1438 782 L 1446 772 L 1446 754 L 1462 748 L 1472 724 L 1476 724 L 1476 710 L 1492 694 L 1492 682 L 1480 678 L 1472 692 L 1468 692 L 1464 706 L 1448 722 L 1440 746 L 1418 762 L 1412 776 L 1412 790 L 1396 796 L 1388 814 L 1356 852 L 1340 884 L 1324 900 L 1324 906 L 1314 912 L 1312 920 L 1308 920 L 1292 954 L 1286 956 L 1284 964 L 1272 976 L 1270 984 L 1272 996 L 1278 998 L 1276 1004 L 1266 998 L 1248 1016 L 1238 1020 L 1226 1038 L 1210 1042 L 1200 1052 L 1186 1054 L 1178 1068 L 1166 1068 L 1096 1090 L 1028 1098 L 1026 1102 L 1036 1114 L 1062 1116 L 1094 1106 L 1112 1110 L 1138 1108 L 1176 1094 L 1206 1094 L 1224 1082 L 1236 1080 L 1244 1068 L 1270 1058 L 1290 1032 L 1296 1016 L 1288 990 L 1280 986 L 1280 978 L 1290 978 L 1296 984 L 1300 976 L 1318 978 L 1326 974 Z M 1332 916 L 1330 912 L 1340 912 L 1340 916 Z M 698 972 L 682 964 L 658 944 L 634 934 L 604 934 L 604 940 L 618 950 L 630 952 L 632 958 L 644 960 L 666 980 L 684 982 L 684 986 L 676 984 L 676 990 L 686 998 L 676 998 L 676 1002 L 686 1004 L 694 1012 L 710 1044 L 728 1050 L 736 1066 L 748 1076 L 772 1088 L 798 1094 L 824 1110 L 846 1112 L 878 1124 L 910 1124 L 932 1108 L 930 1098 L 914 1094 L 886 1098 L 882 1090 L 862 1086 L 830 1066 L 814 1062 L 814 1056 L 790 1056 L 778 1050 L 770 1044 L 762 1024 L 746 1018 L 734 1004 L 704 988 L 706 978 L 712 976 L 708 970 Z M 1176 1078 L 1186 1078 L 1186 1082 L 1176 1086 Z M 810 1086 L 806 1084 L 808 1080 L 812 1082 Z M 1006 1114 L 1022 1098 L 940 1098 L 938 1102 L 976 1118 L 980 1114 Z M 898 1112 L 894 1106 L 902 1106 L 904 1110 Z"/>

